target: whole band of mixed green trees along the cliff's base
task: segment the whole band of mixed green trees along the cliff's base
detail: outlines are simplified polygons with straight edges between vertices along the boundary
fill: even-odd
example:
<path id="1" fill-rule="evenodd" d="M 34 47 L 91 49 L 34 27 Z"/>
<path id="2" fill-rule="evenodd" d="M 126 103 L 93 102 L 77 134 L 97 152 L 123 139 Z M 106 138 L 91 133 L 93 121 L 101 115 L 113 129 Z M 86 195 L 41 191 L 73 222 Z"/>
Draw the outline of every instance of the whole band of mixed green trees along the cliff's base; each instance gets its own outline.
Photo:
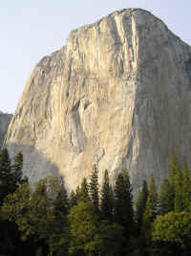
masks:
<path id="1" fill-rule="evenodd" d="M 23 155 L 0 153 L 0 255 L 189 255 L 191 177 L 172 153 L 168 177 L 157 190 L 144 180 L 134 201 L 126 170 L 111 186 L 108 171 L 67 193 L 61 177 L 34 186 L 23 177 Z M 12 163 L 12 164 L 11 164 Z"/>

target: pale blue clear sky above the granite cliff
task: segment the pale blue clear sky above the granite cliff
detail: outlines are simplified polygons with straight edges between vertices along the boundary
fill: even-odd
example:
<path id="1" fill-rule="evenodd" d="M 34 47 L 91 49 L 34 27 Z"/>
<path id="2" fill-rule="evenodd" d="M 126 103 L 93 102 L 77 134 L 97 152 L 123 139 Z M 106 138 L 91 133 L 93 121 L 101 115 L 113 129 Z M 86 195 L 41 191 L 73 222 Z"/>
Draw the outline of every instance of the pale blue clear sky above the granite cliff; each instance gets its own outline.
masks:
<path id="1" fill-rule="evenodd" d="M 70 31 L 124 8 L 152 12 L 191 45 L 190 0 L 0 0 L 0 110 L 15 111 L 34 65 Z"/>

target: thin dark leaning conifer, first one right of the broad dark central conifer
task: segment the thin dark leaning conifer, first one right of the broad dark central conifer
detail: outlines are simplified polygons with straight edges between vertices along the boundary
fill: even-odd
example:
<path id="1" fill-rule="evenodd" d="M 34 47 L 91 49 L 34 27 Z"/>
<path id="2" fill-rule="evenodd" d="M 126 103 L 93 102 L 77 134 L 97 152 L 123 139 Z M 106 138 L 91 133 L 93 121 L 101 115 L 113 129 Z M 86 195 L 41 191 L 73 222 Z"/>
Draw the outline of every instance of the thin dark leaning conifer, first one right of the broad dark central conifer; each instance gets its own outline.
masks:
<path id="1" fill-rule="evenodd" d="M 138 230 L 140 230 L 141 228 L 147 198 L 148 198 L 148 186 L 147 186 L 146 180 L 143 180 L 142 190 L 141 192 L 138 192 L 138 200 L 136 204 L 136 219 L 138 223 Z"/>

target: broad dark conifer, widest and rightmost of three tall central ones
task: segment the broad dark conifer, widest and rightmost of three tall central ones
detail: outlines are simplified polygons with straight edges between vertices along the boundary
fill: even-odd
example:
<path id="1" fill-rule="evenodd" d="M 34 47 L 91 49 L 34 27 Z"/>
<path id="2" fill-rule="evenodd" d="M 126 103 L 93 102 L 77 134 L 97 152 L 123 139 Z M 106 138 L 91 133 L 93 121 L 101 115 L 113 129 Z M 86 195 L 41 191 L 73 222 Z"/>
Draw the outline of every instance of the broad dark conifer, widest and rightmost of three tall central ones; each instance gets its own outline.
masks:
<path id="1" fill-rule="evenodd" d="M 132 186 L 126 171 L 117 176 L 115 185 L 115 221 L 125 228 L 127 236 L 134 233 Z"/>

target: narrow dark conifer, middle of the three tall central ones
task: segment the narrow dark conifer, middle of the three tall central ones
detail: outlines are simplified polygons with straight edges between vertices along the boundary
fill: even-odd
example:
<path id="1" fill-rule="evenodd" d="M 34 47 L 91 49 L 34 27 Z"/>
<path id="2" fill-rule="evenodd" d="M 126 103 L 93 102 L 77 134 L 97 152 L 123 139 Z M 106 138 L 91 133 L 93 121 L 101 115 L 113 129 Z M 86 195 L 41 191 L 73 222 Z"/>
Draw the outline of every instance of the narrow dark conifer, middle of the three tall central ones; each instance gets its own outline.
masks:
<path id="1" fill-rule="evenodd" d="M 108 171 L 105 170 L 101 189 L 100 211 L 102 218 L 110 222 L 113 219 L 113 202 L 113 190 L 110 186 Z"/>

